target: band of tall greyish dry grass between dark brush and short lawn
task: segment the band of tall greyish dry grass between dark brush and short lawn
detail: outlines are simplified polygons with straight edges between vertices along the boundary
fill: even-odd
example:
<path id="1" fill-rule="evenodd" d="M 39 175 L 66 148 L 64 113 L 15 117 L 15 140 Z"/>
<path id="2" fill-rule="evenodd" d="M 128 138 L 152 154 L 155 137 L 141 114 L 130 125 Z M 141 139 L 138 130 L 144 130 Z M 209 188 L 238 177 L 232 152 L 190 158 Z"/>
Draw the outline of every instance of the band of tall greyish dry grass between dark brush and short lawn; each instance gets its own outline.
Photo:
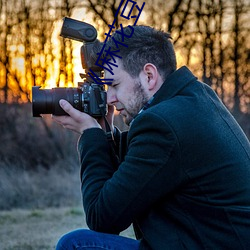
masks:
<path id="1" fill-rule="evenodd" d="M 67 171 L 62 163 L 34 171 L 0 164 L 0 210 L 79 205 L 79 167 Z"/>

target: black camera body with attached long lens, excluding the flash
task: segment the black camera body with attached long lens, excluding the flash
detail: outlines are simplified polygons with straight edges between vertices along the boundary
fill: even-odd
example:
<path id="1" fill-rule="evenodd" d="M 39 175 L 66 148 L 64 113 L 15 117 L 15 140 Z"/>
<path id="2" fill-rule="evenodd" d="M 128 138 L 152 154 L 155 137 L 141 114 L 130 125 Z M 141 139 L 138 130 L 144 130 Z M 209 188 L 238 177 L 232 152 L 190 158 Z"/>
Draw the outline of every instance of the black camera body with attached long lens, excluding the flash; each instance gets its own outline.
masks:
<path id="1" fill-rule="evenodd" d="M 101 117 L 107 112 L 107 93 L 102 85 L 82 83 L 78 88 L 32 88 L 33 117 L 41 114 L 68 115 L 59 105 L 61 99 L 67 100 L 75 109 L 92 117 Z"/>

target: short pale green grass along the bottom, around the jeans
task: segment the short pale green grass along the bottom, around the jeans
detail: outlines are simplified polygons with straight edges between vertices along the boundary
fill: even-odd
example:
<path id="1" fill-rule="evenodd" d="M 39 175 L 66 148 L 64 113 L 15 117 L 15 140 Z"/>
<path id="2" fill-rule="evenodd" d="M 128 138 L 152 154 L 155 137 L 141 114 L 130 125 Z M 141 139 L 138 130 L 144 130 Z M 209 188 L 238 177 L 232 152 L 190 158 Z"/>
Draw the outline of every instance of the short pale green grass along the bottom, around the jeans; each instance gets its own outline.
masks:
<path id="1" fill-rule="evenodd" d="M 87 228 L 81 207 L 0 211 L 0 249 L 55 249 L 61 235 L 77 228 Z M 121 235 L 134 237 L 132 228 Z"/>

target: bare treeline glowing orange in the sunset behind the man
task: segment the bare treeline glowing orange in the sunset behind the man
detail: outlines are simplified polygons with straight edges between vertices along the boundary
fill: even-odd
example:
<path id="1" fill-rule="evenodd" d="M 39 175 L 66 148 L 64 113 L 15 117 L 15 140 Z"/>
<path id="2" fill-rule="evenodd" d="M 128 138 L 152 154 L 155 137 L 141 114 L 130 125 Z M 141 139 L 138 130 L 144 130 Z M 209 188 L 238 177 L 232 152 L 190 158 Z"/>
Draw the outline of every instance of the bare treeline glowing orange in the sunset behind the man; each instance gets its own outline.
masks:
<path id="1" fill-rule="evenodd" d="M 26 102 L 32 86 L 51 81 L 72 86 L 79 55 L 71 40 L 59 38 L 61 19 L 91 22 L 102 39 L 120 2 L 0 0 L 0 102 Z M 187 64 L 211 85 L 237 116 L 250 112 L 249 16 L 248 0 L 147 0 L 137 24 L 171 32 L 179 65 Z M 120 23 L 131 20 L 118 16 L 116 26 Z"/>

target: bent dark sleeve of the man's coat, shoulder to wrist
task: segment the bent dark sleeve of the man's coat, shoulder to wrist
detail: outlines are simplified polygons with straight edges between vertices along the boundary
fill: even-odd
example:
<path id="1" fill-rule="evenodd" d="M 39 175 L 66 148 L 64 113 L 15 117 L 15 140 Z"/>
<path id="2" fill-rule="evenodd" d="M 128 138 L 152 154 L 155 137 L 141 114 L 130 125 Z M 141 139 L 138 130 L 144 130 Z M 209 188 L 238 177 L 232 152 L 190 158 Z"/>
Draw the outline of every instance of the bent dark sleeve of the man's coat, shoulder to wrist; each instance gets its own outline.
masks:
<path id="1" fill-rule="evenodd" d="M 173 164 L 178 159 L 175 134 L 153 113 L 142 113 L 133 122 L 117 170 L 101 129 L 86 130 L 78 150 L 86 221 L 95 231 L 120 233 L 183 181 Z"/>

